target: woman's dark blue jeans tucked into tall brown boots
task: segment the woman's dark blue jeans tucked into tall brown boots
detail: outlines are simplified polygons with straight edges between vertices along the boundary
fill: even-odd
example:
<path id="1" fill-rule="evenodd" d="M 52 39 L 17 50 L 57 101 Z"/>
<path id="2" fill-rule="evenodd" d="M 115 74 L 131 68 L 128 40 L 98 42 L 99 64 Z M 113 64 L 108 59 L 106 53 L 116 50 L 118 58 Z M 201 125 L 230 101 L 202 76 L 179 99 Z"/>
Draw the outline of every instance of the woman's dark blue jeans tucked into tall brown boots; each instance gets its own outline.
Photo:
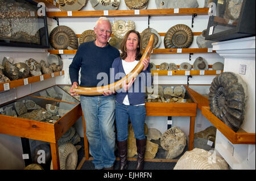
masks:
<path id="1" fill-rule="evenodd" d="M 133 125 L 134 136 L 138 140 L 146 138 L 144 123 L 146 119 L 145 106 L 132 106 L 115 102 L 115 125 L 117 127 L 117 141 L 125 141 L 128 138 L 128 121 Z"/>

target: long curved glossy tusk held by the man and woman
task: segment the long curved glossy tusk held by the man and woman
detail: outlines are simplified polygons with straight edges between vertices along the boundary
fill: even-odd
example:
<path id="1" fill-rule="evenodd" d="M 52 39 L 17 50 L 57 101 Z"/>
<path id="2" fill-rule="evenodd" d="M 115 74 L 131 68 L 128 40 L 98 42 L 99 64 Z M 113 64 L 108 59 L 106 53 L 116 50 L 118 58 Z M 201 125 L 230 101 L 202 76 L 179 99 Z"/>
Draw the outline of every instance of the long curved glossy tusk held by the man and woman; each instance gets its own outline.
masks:
<path id="1" fill-rule="evenodd" d="M 117 91 L 118 89 L 121 89 L 125 81 L 126 83 L 128 83 L 131 81 L 131 79 L 137 77 L 137 75 L 141 73 L 142 69 L 144 68 L 144 65 L 142 64 L 142 60 L 144 60 L 144 58 L 150 57 L 153 43 L 154 43 L 154 35 L 151 35 L 150 40 L 148 41 L 147 47 L 141 57 L 141 60 L 138 62 L 135 68 L 131 70 L 129 74 L 127 74 L 125 77 L 123 77 L 119 81 L 111 83 L 110 85 L 101 86 L 101 87 L 77 87 L 77 88 L 73 88 L 73 91 L 75 91 L 76 94 L 81 94 L 81 95 L 101 95 L 103 94 L 103 92 L 108 92 L 109 90 L 111 92 L 114 92 L 114 91 Z"/>

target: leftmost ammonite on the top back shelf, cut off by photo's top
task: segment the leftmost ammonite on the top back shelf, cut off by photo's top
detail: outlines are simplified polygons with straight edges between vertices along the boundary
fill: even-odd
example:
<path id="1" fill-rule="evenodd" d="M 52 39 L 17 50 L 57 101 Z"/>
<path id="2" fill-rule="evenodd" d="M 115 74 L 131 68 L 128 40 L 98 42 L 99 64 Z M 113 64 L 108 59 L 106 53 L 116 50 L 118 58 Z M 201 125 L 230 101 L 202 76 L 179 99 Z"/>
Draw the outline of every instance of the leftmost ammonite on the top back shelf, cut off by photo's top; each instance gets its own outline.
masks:
<path id="1" fill-rule="evenodd" d="M 61 11 L 78 11 L 88 0 L 59 0 Z"/>

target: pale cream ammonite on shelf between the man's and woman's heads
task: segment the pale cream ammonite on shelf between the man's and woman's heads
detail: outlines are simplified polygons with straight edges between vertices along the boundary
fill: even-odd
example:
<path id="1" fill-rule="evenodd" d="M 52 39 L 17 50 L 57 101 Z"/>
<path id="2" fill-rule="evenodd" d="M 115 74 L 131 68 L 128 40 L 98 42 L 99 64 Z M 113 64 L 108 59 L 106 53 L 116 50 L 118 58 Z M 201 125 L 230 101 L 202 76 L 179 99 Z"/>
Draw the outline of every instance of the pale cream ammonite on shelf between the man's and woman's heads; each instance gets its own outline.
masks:
<path id="1" fill-rule="evenodd" d="M 113 23 L 113 35 L 117 36 L 118 39 L 123 39 L 125 34 L 130 30 L 135 30 L 134 21 L 129 20 L 126 22 L 125 20 L 115 20 Z"/>

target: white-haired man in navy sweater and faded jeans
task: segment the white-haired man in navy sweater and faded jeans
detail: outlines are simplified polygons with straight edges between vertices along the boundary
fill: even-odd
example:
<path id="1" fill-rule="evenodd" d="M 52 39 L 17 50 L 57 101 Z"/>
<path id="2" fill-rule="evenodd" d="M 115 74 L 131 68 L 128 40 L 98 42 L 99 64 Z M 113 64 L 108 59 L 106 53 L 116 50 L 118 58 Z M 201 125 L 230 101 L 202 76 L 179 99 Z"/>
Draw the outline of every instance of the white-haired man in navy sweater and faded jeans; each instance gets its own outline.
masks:
<path id="1" fill-rule="evenodd" d="M 98 87 L 101 81 L 97 75 L 108 75 L 113 60 L 119 57 L 118 49 L 112 47 L 108 41 L 112 28 L 108 18 L 101 17 L 94 27 L 96 40 L 82 43 L 77 49 L 69 75 L 73 87 L 79 85 L 79 70 L 81 68 L 81 87 Z M 101 77 L 101 76 L 99 76 Z M 109 82 L 106 82 L 108 85 Z M 82 112 L 85 116 L 86 137 L 88 138 L 90 153 L 93 156 L 95 169 L 113 169 L 115 155 L 114 112 L 115 96 L 106 92 L 104 95 L 80 95 Z"/>

